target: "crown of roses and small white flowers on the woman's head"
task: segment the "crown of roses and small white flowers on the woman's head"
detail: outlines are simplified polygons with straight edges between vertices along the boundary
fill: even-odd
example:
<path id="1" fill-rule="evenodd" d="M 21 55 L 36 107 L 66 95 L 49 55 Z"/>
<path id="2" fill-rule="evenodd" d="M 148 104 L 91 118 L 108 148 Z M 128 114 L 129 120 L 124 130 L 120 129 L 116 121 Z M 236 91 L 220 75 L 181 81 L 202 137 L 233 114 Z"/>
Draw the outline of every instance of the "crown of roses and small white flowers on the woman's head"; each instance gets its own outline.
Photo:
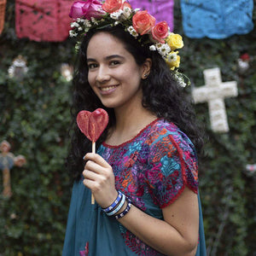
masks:
<path id="1" fill-rule="evenodd" d="M 142 44 L 148 44 L 150 50 L 157 50 L 166 61 L 178 84 L 186 86 L 182 73 L 177 72 L 180 56 L 177 49 L 183 48 L 183 38 L 179 34 L 170 32 L 166 21 L 155 24 L 154 16 L 147 10 L 132 9 L 125 0 L 98 0 L 76 1 L 73 3 L 69 16 L 73 18 L 70 37 L 81 37 L 90 29 L 101 29 L 105 26 L 121 25 L 131 36 Z M 76 45 L 79 48 L 80 42 Z"/>

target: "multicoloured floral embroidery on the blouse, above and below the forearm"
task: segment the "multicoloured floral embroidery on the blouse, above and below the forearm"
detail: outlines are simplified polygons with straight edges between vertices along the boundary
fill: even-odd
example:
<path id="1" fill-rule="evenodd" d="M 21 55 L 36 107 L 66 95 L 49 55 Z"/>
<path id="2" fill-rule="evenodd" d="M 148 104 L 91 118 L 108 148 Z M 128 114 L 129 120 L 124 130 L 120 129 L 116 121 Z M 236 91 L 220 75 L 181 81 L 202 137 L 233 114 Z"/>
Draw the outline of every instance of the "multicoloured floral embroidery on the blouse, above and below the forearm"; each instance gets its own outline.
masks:
<path id="1" fill-rule="evenodd" d="M 116 188 L 148 214 L 163 218 L 185 186 L 197 193 L 197 158 L 189 138 L 176 125 L 156 119 L 119 146 L 103 143 L 98 153 L 113 167 Z M 125 244 L 138 255 L 162 255 L 119 224 Z"/>

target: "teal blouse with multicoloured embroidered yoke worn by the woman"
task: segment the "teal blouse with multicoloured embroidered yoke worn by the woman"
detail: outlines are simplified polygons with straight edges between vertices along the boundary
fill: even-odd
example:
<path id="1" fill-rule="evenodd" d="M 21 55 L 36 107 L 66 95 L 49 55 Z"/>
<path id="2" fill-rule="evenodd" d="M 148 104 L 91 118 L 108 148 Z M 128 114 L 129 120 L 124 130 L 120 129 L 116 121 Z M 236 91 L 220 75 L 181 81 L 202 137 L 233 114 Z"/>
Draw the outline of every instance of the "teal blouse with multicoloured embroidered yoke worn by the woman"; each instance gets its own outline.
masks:
<path id="1" fill-rule="evenodd" d="M 133 205 L 163 219 L 164 208 L 185 186 L 198 193 L 195 147 L 176 125 L 156 119 L 137 137 L 119 146 L 102 143 L 97 154 L 113 167 L 115 186 Z M 199 196 L 198 196 L 199 199 Z M 199 199 L 200 200 L 200 199 Z M 196 255 L 206 255 L 200 207 L 199 245 Z M 73 184 L 62 256 L 163 255 L 143 243 L 90 203 L 90 189 L 83 178 Z"/>

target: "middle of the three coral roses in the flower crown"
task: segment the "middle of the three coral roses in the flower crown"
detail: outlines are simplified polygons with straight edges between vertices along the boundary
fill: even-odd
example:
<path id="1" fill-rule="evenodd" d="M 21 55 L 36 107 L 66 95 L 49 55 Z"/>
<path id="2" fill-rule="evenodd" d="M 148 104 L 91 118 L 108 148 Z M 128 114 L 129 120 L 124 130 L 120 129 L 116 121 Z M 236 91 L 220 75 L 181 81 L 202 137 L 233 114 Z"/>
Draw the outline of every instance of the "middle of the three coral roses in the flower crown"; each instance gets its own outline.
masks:
<path id="1" fill-rule="evenodd" d="M 149 15 L 147 10 L 137 11 L 132 17 L 132 26 L 141 35 L 148 33 L 154 26 L 154 23 L 154 17 Z"/>

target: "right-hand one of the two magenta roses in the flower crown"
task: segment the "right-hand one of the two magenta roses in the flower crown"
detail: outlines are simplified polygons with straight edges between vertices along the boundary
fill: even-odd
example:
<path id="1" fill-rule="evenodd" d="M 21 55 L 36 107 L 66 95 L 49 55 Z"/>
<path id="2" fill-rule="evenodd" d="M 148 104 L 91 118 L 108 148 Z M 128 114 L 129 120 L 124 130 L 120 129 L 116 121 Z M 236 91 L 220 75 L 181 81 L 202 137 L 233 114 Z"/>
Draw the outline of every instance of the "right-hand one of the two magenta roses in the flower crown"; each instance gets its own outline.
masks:
<path id="1" fill-rule="evenodd" d="M 102 15 L 105 15 L 105 11 L 102 10 L 102 3 L 97 0 L 87 0 L 82 7 L 84 11 L 84 17 L 86 19 L 100 18 Z"/>

